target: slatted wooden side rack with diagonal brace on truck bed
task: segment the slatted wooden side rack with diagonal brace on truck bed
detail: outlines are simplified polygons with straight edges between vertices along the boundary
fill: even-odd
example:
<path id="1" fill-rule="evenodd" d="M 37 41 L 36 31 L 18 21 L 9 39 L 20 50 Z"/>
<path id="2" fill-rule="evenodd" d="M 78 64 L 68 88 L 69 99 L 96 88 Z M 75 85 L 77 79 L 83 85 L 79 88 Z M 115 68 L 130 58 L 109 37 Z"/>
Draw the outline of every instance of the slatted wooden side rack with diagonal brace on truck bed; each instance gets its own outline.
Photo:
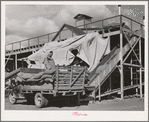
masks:
<path id="1" fill-rule="evenodd" d="M 86 67 L 57 66 L 55 90 L 83 89 L 86 79 Z"/>

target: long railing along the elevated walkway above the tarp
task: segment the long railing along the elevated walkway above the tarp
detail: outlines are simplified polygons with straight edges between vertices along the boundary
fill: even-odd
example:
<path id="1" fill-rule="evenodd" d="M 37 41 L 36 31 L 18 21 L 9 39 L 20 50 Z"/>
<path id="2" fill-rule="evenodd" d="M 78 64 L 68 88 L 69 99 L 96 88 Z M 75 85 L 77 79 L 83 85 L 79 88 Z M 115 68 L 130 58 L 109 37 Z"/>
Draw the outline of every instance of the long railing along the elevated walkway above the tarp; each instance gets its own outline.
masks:
<path id="1" fill-rule="evenodd" d="M 122 18 L 122 23 L 125 22 L 125 24 L 129 27 L 131 32 L 134 30 L 141 30 L 141 28 L 144 27 L 144 25 L 142 23 L 137 22 L 127 16 L 117 15 L 117 16 L 113 16 L 113 17 L 109 17 L 106 19 L 102 19 L 102 20 L 94 21 L 92 23 L 85 24 L 86 29 L 84 29 L 84 30 L 86 31 L 86 33 L 89 33 L 90 30 L 88 29 L 88 27 L 92 26 L 91 28 L 97 28 L 97 30 L 102 30 L 102 35 L 104 35 L 105 25 L 111 24 L 113 22 L 120 23 L 120 18 Z M 122 23 L 120 23 L 120 25 L 122 25 Z M 81 27 L 84 27 L 84 25 L 79 25 L 77 27 L 81 28 Z M 69 31 L 69 32 L 67 32 L 67 31 Z M 13 53 L 14 50 L 18 49 L 19 52 L 21 53 L 22 48 L 27 48 L 30 51 L 30 47 L 35 46 L 35 45 L 37 46 L 37 49 L 39 49 L 45 43 L 51 42 L 52 38 L 55 36 L 56 33 L 57 32 L 53 32 L 53 33 L 49 33 L 49 34 L 45 34 L 45 35 L 41 35 L 41 36 L 37 36 L 37 37 L 33 37 L 33 38 L 29 38 L 29 39 L 25 39 L 25 40 L 21 40 L 18 42 L 7 44 L 7 45 L 5 45 L 5 52 Z M 56 40 L 63 40 L 63 39 L 66 39 L 67 37 L 73 37 L 73 36 L 75 36 L 75 34 L 73 34 L 73 32 L 70 32 L 70 30 L 68 30 L 68 29 L 64 29 L 59 34 L 59 37 L 56 38 Z"/>

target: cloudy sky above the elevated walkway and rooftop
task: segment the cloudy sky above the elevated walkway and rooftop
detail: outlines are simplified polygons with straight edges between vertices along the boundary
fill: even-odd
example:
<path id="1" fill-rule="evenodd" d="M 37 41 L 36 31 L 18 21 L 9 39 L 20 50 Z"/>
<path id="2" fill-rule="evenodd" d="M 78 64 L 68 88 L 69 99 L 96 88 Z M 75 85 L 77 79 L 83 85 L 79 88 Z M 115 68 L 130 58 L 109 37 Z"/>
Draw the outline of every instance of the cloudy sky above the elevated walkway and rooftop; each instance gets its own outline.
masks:
<path id="1" fill-rule="evenodd" d="M 6 5 L 6 44 L 58 31 L 74 16 L 86 14 L 92 21 L 118 15 L 117 5 Z M 122 5 L 122 14 L 142 22 L 144 5 Z"/>

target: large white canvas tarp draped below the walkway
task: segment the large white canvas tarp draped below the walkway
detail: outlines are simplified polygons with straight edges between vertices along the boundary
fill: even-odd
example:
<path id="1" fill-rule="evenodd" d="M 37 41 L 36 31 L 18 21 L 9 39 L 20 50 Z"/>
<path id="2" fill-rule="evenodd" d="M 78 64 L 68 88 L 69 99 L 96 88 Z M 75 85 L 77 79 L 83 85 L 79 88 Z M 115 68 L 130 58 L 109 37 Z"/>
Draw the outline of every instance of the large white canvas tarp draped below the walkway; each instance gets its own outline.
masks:
<path id="1" fill-rule="evenodd" d="M 41 67 L 43 60 L 49 51 L 53 51 L 55 64 L 69 65 L 73 62 L 75 56 L 71 53 L 72 49 L 77 49 L 77 56 L 89 65 L 89 71 L 92 71 L 99 63 L 102 56 L 110 52 L 109 37 L 103 39 L 98 32 L 86 35 L 76 36 L 61 42 L 49 42 L 42 49 L 28 57 L 35 61 L 36 65 Z"/>

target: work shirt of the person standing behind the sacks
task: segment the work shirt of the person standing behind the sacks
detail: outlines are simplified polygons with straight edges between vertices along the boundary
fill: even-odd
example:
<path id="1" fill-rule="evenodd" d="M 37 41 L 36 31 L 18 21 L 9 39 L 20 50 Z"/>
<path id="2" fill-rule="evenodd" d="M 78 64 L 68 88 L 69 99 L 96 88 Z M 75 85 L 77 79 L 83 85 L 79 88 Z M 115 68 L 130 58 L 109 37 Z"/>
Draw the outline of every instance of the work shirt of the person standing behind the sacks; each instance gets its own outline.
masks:
<path id="1" fill-rule="evenodd" d="M 50 59 L 45 58 L 44 64 L 45 64 L 46 69 L 49 69 L 49 70 L 55 69 L 55 62 L 54 62 L 53 58 L 50 58 Z"/>

